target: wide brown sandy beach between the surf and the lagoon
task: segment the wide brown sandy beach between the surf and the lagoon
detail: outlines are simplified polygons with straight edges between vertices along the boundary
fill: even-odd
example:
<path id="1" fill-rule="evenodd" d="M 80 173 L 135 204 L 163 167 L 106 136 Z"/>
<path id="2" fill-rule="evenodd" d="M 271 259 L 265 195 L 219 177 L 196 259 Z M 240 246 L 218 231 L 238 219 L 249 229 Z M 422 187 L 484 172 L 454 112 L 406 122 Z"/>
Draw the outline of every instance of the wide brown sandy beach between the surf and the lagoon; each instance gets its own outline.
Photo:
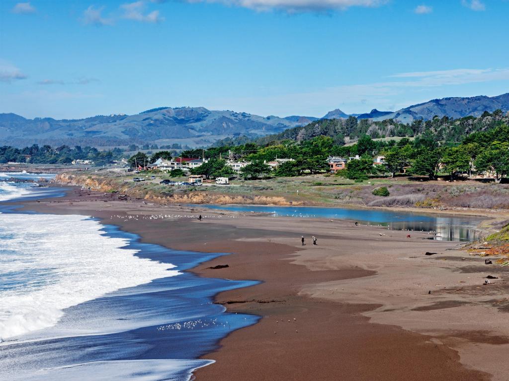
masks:
<path id="1" fill-rule="evenodd" d="M 216 297 L 230 311 L 263 319 L 204 356 L 216 363 L 199 369 L 199 380 L 505 380 L 509 374 L 506 270 L 449 250 L 455 242 L 349 221 L 120 201 L 78 187 L 65 198 L 24 205 L 93 215 L 175 249 L 231 252 L 194 272 L 262 280 Z M 200 213 L 203 221 L 143 218 Z M 126 220 L 126 214 L 140 217 Z M 483 286 L 489 274 L 498 279 Z"/>

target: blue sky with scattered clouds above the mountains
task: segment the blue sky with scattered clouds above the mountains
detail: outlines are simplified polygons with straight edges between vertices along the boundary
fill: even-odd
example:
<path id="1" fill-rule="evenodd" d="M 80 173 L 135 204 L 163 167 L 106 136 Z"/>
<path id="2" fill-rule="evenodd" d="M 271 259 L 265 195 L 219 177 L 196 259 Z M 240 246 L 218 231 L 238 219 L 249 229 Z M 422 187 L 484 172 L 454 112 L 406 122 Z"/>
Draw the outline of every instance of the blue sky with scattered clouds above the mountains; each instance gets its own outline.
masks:
<path id="1" fill-rule="evenodd" d="M 509 0 L 0 2 L 0 112 L 397 110 L 509 91 Z"/>

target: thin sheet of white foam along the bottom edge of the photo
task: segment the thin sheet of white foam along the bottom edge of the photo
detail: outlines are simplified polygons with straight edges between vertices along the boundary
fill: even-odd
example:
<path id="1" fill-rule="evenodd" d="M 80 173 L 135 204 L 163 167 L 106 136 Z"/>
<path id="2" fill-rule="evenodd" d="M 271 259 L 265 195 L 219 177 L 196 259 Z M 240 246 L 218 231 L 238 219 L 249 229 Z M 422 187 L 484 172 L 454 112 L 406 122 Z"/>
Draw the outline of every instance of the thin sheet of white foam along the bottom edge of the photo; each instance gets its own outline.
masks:
<path id="1" fill-rule="evenodd" d="M 42 369 L 32 374 L 10 376 L 11 381 L 184 381 L 197 368 L 211 360 L 119 360 L 97 361 L 59 368 Z"/>

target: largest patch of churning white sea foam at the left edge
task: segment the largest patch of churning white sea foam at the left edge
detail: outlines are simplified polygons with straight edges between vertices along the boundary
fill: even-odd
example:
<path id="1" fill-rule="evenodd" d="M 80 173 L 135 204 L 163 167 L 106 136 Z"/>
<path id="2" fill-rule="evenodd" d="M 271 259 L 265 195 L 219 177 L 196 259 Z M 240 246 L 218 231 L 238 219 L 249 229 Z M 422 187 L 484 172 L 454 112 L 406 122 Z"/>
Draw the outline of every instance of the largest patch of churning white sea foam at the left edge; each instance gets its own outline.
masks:
<path id="1" fill-rule="evenodd" d="M 128 240 L 102 228 L 78 215 L 0 214 L 0 338 L 51 327 L 65 308 L 178 274 L 121 248 Z"/>

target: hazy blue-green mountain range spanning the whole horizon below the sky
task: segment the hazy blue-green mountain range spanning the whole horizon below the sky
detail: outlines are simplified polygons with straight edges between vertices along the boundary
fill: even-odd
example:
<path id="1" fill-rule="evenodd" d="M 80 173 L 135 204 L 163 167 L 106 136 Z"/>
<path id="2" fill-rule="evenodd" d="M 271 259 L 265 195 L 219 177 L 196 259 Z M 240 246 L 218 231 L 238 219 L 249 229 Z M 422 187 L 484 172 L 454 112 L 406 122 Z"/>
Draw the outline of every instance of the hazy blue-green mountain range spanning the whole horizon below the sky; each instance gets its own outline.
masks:
<path id="1" fill-rule="evenodd" d="M 131 143 L 158 145 L 179 143 L 189 147 L 206 146 L 217 140 L 238 136 L 257 137 L 277 134 L 318 119 L 355 116 L 359 119 L 396 119 L 410 123 L 432 119 L 435 115 L 460 118 L 483 112 L 509 111 L 509 93 L 498 97 L 444 98 L 392 112 L 374 109 L 365 114 L 346 114 L 340 109 L 323 118 L 310 116 L 258 116 L 245 112 L 212 111 L 204 107 L 159 107 L 135 115 L 98 115 L 84 119 L 25 119 L 13 113 L 0 114 L 0 144 L 26 146 L 37 143 L 52 146 L 123 146 Z"/>

